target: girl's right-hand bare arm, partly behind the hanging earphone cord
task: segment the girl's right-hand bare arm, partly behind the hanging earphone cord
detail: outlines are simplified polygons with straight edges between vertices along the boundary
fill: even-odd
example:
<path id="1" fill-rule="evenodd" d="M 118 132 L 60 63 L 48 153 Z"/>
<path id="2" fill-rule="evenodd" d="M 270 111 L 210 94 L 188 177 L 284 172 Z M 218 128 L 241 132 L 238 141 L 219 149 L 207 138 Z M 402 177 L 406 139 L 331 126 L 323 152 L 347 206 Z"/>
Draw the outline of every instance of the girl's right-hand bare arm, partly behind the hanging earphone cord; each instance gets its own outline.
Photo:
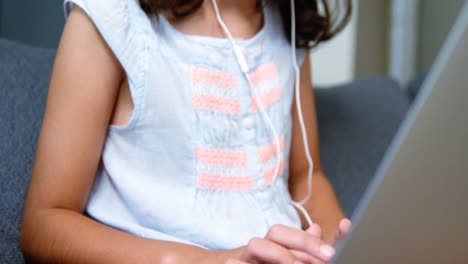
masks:
<path id="1" fill-rule="evenodd" d="M 314 161 L 312 197 L 307 201 L 304 208 L 310 214 L 312 221 L 322 227 L 323 239 L 331 242 L 335 236 L 340 221 L 344 218 L 336 194 L 330 182 L 326 178 L 320 161 L 317 117 L 315 113 L 315 99 L 310 77 L 310 60 L 306 55 L 304 64 L 301 66 L 300 92 L 302 113 L 307 129 L 310 154 Z M 304 199 L 307 194 L 307 173 L 309 165 L 304 152 L 299 118 L 296 111 L 296 100 L 293 101 L 292 109 L 293 128 L 289 169 L 289 189 L 295 201 Z M 303 226 L 307 225 L 301 213 Z"/>

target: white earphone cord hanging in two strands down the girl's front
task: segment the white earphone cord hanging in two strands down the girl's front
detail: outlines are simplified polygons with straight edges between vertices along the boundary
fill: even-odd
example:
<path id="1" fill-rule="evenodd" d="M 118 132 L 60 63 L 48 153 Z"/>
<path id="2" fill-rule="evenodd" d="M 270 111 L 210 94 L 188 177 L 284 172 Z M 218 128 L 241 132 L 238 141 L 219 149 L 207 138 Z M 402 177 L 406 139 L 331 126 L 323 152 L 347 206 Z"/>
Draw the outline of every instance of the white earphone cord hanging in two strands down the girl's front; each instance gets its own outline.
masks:
<path id="1" fill-rule="evenodd" d="M 224 23 L 223 19 L 221 18 L 218 5 L 216 3 L 216 0 L 212 0 L 213 3 L 213 8 L 216 13 L 216 19 L 218 20 L 218 23 L 220 24 L 221 28 L 225 32 L 226 36 L 229 38 L 231 41 L 231 44 L 233 45 L 234 48 L 234 53 L 236 55 L 237 61 L 239 63 L 239 66 L 242 70 L 242 73 L 244 77 L 247 80 L 247 83 L 252 91 L 254 91 L 254 87 L 252 84 L 252 81 L 250 80 L 250 77 L 248 75 L 249 72 L 249 67 L 247 64 L 247 60 L 244 57 L 244 54 L 242 53 L 241 49 L 239 46 L 236 44 L 234 41 L 234 38 L 231 35 L 231 32 L 227 28 L 226 24 Z M 301 107 L 301 96 L 300 96 L 300 89 L 299 89 L 299 80 L 300 80 L 300 69 L 299 66 L 297 65 L 297 58 L 296 58 L 296 19 L 295 19 L 295 6 L 294 6 L 294 0 L 291 0 L 291 57 L 292 57 L 292 63 L 295 71 L 295 96 L 296 96 L 296 106 L 297 106 L 297 113 L 299 117 L 299 123 L 301 126 L 301 132 L 302 132 L 302 139 L 304 143 L 304 150 L 307 158 L 307 162 L 309 164 L 309 171 L 307 175 L 307 195 L 305 198 L 299 202 L 291 201 L 292 205 L 295 206 L 305 217 L 307 223 L 309 226 L 312 225 L 312 220 L 310 219 L 309 214 L 307 211 L 304 209 L 303 205 L 310 199 L 312 195 L 312 172 L 313 172 L 313 161 L 312 157 L 310 155 L 310 150 L 309 150 L 309 144 L 308 144 L 308 139 L 307 139 L 307 131 L 305 128 L 304 124 L 304 118 L 302 115 L 302 107 Z M 275 166 L 275 171 L 274 171 L 274 176 L 273 176 L 273 182 L 276 180 L 279 174 L 279 169 L 280 169 L 280 158 L 281 158 L 281 153 L 280 153 L 280 144 L 279 144 L 279 137 L 278 133 L 276 132 L 270 118 L 268 117 L 265 107 L 263 102 L 260 100 L 258 96 L 255 96 L 256 103 L 258 104 L 260 108 L 260 112 L 262 114 L 262 118 L 264 121 L 268 124 L 270 127 L 273 136 L 275 138 L 275 147 L 276 147 L 276 154 L 277 154 L 277 160 L 276 160 L 276 166 Z"/>

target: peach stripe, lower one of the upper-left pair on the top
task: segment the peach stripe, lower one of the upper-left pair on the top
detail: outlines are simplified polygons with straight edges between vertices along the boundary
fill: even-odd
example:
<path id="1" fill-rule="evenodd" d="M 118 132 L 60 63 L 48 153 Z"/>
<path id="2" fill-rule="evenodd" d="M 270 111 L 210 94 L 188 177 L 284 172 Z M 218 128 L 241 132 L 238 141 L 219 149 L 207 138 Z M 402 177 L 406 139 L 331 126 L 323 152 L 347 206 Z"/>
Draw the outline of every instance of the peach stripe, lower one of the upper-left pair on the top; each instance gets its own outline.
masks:
<path id="1" fill-rule="evenodd" d="M 230 114 L 238 114 L 240 112 L 238 99 L 216 95 L 193 95 L 192 105 L 193 108 L 199 110 L 218 111 Z"/>

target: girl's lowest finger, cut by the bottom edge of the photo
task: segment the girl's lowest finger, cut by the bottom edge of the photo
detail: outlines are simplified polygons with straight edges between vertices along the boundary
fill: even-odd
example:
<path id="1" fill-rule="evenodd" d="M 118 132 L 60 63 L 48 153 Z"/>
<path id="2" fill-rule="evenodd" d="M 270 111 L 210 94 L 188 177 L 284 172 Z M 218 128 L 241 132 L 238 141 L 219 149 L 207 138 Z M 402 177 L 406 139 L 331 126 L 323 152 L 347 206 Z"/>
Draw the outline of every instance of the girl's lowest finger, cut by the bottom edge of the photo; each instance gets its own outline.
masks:
<path id="1" fill-rule="evenodd" d="M 296 257 L 273 241 L 253 238 L 249 241 L 241 260 L 248 263 L 294 263 Z"/>

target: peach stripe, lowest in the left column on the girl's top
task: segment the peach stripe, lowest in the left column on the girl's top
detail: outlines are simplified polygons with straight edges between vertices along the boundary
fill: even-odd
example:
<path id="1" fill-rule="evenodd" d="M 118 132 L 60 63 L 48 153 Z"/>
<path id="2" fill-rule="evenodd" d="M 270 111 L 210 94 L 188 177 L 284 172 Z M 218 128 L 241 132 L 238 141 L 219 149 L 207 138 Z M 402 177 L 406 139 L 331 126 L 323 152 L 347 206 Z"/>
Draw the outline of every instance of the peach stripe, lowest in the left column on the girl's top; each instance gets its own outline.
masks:
<path id="1" fill-rule="evenodd" d="M 197 185 L 201 188 L 212 190 L 251 190 L 252 178 L 243 175 L 221 175 L 209 172 L 199 172 Z"/>

